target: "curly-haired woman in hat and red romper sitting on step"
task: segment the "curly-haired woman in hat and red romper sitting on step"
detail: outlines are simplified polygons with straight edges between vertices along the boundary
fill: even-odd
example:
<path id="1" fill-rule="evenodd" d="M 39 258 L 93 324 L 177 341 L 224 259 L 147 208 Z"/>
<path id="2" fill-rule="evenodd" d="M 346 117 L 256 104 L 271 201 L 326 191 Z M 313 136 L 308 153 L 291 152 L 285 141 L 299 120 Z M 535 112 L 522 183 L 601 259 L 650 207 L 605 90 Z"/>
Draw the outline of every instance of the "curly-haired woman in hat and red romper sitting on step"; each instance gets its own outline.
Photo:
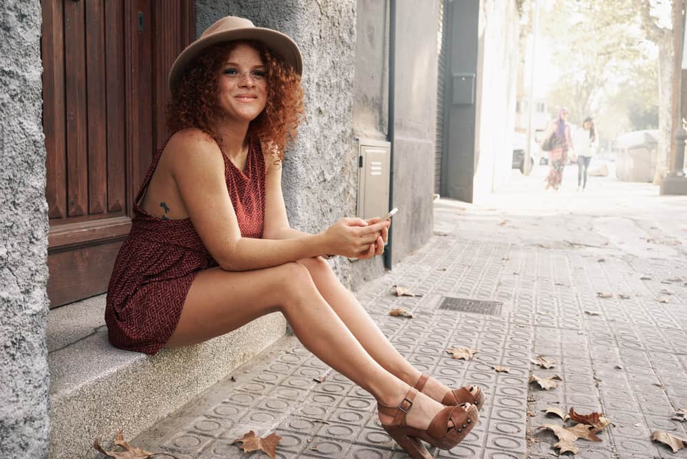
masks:
<path id="1" fill-rule="evenodd" d="M 393 348 L 323 254 L 381 255 L 389 220 L 289 226 L 281 160 L 303 111 L 301 52 L 247 19 L 217 21 L 175 61 L 173 136 L 134 206 L 105 312 L 118 348 L 155 354 L 283 313 L 319 359 L 369 391 L 413 458 L 450 449 L 477 423 L 478 387 L 449 389 Z"/>

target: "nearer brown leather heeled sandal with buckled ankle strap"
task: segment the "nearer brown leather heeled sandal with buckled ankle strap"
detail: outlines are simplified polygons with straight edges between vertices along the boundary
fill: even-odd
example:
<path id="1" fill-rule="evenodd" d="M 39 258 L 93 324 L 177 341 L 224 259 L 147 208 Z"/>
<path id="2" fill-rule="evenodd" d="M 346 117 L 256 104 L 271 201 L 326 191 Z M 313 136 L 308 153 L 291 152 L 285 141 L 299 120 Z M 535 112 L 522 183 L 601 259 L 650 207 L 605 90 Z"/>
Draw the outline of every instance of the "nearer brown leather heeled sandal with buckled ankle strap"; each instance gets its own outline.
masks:
<path id="1" fill-rule="evenodd" d="M 415 429 L 406 424 L 406 414 L 413 407 L 413 400 L 417 389 L 408 389 L 406 398 L 397 408 L 386 407 L 378 403 L 377 409 L 381 414 L 393 416 L 391 424 L 382 424 L 384 430 L 396 440 L 398 445 L 406 450 L 413 459 L 431 459 L 432 455 L 422 445 L 420 440 L 428 442 L 439 449 L 451 449 L 458 445 L 475 427 L 479 418 L 479 411 L 475 405 L 464 403 L 452 407 L 445 407 L 430 423 L 427 430 Z M 453 425 L 449 426 L 448 422 Z"/>

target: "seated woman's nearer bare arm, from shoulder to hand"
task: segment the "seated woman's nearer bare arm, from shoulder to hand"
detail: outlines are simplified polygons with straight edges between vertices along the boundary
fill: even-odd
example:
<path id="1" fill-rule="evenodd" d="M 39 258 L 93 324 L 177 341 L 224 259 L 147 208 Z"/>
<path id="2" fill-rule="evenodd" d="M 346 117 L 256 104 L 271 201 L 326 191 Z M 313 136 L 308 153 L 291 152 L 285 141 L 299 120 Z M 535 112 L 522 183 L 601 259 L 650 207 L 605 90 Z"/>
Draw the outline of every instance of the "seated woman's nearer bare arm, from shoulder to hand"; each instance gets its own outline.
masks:
<path id="1" fill-rule="evenodd" d="M 267 268 L 323 253 L 353 257 L 367 251 L 386 226 L 343 219 L 316 235 L 284 240 L 242 237 L 217 144 L 200 136 L 180 136 L 168 150 L 173 157 L 173 178 L 190 220 L 223 269 Z"/>

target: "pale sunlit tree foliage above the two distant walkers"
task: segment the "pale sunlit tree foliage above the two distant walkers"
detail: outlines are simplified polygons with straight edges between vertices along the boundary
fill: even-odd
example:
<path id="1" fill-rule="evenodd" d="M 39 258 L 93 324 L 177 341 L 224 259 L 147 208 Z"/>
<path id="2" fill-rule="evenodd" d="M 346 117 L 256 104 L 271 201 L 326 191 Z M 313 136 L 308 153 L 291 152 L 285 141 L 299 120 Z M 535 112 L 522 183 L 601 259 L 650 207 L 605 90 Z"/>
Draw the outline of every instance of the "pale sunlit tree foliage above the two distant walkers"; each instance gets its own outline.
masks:
<path id="1" fill-rule="evenodd" d="M 592 115 L 607 136 L 657 127 L 652 40 L 661 29 L 651 1 L 555 0 L 542 11 L 542 37 L 552 45 L 551 64 L 561 75 L 549 107 L 567 107 L 576 123 Z"/>

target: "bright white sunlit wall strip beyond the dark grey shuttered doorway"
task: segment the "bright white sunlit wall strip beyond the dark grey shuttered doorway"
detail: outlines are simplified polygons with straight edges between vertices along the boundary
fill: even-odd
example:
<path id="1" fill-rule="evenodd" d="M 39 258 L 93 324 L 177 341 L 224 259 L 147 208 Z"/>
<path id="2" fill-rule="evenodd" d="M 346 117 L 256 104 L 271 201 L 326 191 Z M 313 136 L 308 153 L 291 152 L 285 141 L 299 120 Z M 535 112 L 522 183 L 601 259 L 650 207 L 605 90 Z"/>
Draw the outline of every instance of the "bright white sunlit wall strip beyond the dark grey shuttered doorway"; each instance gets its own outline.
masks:
<path id="1" fill-rule="evenodd" d="M 510 177 L 519 21 L 516 0 L 481 1 L 472 202 L 480 202 Z"/>

